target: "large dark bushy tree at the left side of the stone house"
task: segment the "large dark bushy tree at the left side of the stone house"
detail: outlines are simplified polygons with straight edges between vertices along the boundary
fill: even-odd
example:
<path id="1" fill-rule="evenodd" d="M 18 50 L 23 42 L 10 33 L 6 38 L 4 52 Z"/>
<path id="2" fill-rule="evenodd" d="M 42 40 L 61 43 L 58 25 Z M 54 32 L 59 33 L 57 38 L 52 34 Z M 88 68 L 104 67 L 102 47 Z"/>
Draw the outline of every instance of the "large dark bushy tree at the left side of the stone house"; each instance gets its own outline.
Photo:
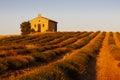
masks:
<path id="1" fill-rule="evenodd" d="M 31 25 L 30 25 L 29 21 L 22 22 L 20 24 L 20 28 L 21 28 L 21 34 L 22 35 L 27 35 L 27 34 L 30 34 L 30 32 L 31 32 Z"/>

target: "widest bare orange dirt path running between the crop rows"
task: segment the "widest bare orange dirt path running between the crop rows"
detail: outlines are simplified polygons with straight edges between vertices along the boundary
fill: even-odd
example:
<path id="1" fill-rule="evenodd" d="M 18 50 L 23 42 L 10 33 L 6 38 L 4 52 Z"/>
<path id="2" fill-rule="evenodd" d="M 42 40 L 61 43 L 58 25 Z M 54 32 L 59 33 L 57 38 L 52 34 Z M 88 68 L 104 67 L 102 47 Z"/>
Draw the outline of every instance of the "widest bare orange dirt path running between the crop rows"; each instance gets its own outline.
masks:
<path id="1" fill-rule="evenodd" d="M 96 80 L 120 80 L 120 68 L 117 66 L 117 61 L 110 55 L 108 37 L 109 33 L 106 34 L 100 54 L 97 57 Z"/>

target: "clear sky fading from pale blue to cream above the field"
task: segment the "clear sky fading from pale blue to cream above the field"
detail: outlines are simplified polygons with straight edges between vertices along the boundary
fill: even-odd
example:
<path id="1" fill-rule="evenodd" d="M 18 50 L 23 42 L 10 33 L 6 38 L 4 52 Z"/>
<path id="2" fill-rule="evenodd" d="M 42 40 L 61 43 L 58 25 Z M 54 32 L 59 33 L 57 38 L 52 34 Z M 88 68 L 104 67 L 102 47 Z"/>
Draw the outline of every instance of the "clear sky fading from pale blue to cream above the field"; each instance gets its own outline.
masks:
<path id="1" fill-rule="evenodd" d="M 58 31 L 120 31 L 120 0 L 0 0 L 0 35 L 20 34 L 20 23 L 38 13 Z"/>

